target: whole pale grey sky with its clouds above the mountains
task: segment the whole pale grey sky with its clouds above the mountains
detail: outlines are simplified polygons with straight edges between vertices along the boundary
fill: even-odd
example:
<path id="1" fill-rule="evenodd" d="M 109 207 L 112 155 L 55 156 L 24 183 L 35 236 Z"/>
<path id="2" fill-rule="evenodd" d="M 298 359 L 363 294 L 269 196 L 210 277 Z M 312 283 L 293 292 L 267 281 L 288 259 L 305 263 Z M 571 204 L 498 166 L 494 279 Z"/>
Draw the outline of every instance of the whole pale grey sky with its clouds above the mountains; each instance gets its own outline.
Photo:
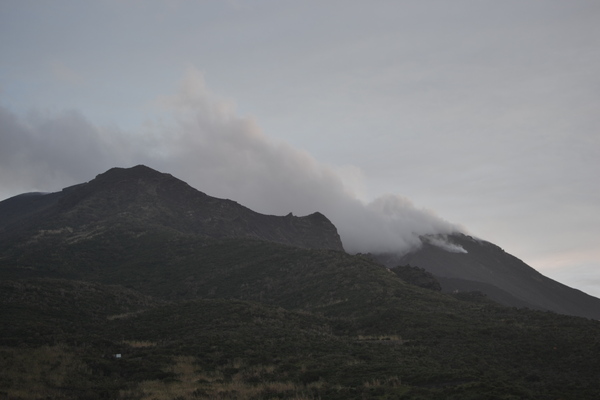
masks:
<path id="1" fill-rule="evenodd" d="M 321 211 L 350 250 L 461 229 L 600 296 L 598 21 L 589 0 L 2 0 L 0 200 L 144 163 Z"/>

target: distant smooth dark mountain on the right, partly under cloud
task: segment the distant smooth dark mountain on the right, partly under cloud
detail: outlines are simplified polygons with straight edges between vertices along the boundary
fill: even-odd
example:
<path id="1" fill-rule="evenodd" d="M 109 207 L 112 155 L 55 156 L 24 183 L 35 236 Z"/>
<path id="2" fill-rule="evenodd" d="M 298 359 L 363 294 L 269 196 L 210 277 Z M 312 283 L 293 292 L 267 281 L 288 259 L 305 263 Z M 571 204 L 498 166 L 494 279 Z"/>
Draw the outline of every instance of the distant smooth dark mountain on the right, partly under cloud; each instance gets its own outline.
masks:
<path id="1" fill-rule="evenodd" d="M 445 292 L 479 291 L 512 307 L 600 320 L 600 299 L 545 277 L 490 242 L 464 234 L 425 237 L 423 246 L 411 253 L 377 258 L 390 267 L 421 267 L 436 277 Z"/>

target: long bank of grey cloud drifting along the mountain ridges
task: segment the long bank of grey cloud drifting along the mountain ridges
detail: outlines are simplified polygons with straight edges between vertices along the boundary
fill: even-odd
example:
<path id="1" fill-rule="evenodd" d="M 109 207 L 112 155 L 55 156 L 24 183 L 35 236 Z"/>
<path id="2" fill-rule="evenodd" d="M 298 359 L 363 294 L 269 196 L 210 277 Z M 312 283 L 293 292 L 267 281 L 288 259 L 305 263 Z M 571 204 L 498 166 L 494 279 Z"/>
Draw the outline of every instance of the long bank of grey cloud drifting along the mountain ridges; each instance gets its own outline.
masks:
<path id="1" fill-rule="evenodd" d="M 361 201 L 335 168 L 238 116 L 195 69 L 153 106 L 158 116 L 136 132 L 95 126 L 75 111 L 20 116 L 0 107 L 0 196 L 58 190 L 114 166 L 146 164 L 261 213 L 322 212 L 349 252 L 406 252 L 420 245 L 419 235 L 461 230 L 398 195 Z"/>

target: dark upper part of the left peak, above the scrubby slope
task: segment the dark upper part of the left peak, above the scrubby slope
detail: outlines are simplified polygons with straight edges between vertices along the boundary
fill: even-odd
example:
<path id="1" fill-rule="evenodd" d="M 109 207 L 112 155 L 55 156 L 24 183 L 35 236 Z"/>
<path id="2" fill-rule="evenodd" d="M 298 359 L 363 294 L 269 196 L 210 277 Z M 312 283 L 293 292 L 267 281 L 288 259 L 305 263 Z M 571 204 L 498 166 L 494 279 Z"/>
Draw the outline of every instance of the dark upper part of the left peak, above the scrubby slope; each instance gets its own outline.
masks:
<path id="1" fill-rule="evenodd" d="M 259 214 L 143 165 L 112 168 L 61 192 L 20 195 L 0 202 L 0 238 L 53 236 L 78 241 L 115 229 L 131 235 L 169 230 L 343 251 L 337 229 L 320 213 L 305 217 Z"/>

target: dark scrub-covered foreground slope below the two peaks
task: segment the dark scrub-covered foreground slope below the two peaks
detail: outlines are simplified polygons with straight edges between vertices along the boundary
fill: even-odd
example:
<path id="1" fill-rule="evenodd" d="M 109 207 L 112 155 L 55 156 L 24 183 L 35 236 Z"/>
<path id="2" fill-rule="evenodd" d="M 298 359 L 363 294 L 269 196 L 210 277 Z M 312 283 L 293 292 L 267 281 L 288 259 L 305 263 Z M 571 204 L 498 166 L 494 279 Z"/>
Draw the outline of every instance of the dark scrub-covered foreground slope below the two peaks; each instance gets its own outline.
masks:
<path id="1" fill-rule="evenodd" d="M 48 212 L 56 199 L 4 230 L 0 398 L 600 396 L 598 321 L 442 293 L 337 249 L 157 225 L 138 196 L 119 223 L 97 200 Z M 54 225 L 34 224 L 43 212 Z"/>

